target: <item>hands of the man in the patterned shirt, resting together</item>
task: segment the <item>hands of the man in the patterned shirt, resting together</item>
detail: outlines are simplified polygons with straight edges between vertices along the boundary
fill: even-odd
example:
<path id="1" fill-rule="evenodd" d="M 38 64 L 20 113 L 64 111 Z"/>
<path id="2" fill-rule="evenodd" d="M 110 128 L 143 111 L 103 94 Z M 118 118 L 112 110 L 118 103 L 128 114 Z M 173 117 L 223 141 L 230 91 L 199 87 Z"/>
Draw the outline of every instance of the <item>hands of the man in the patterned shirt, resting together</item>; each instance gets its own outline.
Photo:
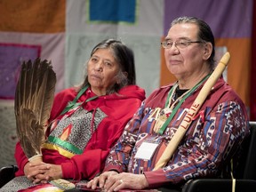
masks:
<path id="1" fill-rule="evenodd" d="M 118 191 L 123 188 L 137 190 L 148 188 L 148 181 L 144 174 L 127 172 L 111 174 L 104 172 L 100 177 L 94 178 L 91 181 L 87 184 L 87 188 L 95 189 L 97 183 L 99 183 L 100 187 L 103 187 L 105 191 Z"/>

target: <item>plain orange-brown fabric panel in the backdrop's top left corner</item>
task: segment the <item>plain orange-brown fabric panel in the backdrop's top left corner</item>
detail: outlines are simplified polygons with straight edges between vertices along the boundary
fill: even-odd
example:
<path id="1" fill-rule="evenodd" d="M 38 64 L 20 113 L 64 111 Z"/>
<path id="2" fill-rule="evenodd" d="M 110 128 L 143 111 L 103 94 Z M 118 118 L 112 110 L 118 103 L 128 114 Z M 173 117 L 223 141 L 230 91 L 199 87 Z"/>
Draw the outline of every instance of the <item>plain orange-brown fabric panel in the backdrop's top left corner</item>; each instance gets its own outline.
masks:
<path id="1" fill-rule="evenodd" d="M 0 2 L 0 31 L 59 33 L 65 31 L 66 0 Z"/>

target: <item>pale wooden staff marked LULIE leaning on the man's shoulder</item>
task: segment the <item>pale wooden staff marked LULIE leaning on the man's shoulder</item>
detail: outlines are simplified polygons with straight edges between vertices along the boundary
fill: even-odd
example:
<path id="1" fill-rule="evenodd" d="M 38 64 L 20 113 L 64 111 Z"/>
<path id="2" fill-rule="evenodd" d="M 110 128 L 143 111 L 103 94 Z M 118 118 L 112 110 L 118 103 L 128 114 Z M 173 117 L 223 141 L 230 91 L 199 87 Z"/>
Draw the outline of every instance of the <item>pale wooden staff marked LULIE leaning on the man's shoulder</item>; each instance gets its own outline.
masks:
<path id="1" fill-rule="evenodd" d="M 188 110 L 188 114 L 182 120 L 177 132 L 172 137 L 172 140 L 168 143 L 167 147 L 164 149 L 164 153 L 159 158 L 154 171 L 160 168 L 163 168 L 165 164 L 170 160 L 172 154 L 174 153 L 175 149 L 178 147 L 180 140 L 183 138 L 189 125 L 191 124 L 193 117 L 196 116 L 199 108 L 204 103 L 204 100 L 208 96 L 208 93 L 211 91 L 212 86 L 216 83 L 216 81 L 220 78 L 221 74 L 225 70 L 228 65 L 228 61 L 230 58 L 229 52 L 226 52 L 223 57 L 221 58 L 218 66 L 212 72 L 212 75 L 209 76 L 208 80 L 205 82 L 202 90 L 196 97 L 196 100 L 193 102 L 192 106 Z"/>

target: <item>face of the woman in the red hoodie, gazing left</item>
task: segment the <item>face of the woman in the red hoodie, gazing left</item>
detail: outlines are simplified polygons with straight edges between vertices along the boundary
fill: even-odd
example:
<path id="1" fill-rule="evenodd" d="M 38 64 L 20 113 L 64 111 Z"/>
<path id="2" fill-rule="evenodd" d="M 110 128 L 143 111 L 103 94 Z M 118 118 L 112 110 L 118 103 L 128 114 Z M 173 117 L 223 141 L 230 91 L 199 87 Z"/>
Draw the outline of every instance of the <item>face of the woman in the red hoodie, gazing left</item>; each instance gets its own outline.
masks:
<path id="1" fill-rule="evenodd" d="M 98 49 L 88 61 L 87 74 L 92 92 L 105 95 L 108 87 L 116 84 L 120 68 L 110 49 Z"/>

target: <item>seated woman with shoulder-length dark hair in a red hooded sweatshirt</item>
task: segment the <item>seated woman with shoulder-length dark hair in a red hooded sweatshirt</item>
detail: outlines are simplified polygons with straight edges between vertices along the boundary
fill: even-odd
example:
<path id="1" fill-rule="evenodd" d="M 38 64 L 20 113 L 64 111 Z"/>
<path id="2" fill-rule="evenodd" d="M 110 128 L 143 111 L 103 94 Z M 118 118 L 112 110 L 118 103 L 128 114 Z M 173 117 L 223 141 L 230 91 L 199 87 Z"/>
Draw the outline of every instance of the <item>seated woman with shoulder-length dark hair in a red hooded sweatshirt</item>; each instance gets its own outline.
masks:
<path id="1" fill-rule="evenodd" d="M 25 174 L 34 183 L 92 179 L 144 99 L 144 90 L 135 85 L 132 50 L 114 39 L 97 44 L 84 83 L 55 96 L 44 163 L 29 163 L 18 142 L 16 176 Z"/>

